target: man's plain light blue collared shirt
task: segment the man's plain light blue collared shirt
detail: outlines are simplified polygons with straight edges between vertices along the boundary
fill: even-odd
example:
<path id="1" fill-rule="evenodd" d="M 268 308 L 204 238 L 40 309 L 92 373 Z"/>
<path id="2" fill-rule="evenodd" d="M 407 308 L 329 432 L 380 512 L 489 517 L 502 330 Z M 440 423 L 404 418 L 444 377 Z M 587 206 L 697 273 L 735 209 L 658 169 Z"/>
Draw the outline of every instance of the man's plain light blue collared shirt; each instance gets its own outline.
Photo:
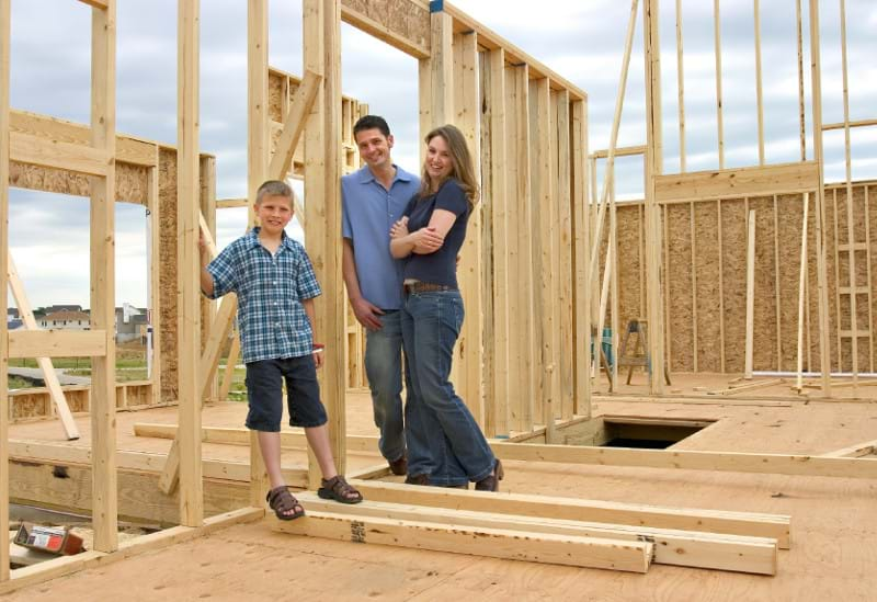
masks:
<path id="1" fill-rule="evenodd" d="M 387 190 L 368 166 L 341 179 L 341 236 L 353 245 L 360 289 L 381 309 L 402 307 L 403 262 L 390 254 L 390 227 L 420 190 L 420 179 L 398 166 Z"/>

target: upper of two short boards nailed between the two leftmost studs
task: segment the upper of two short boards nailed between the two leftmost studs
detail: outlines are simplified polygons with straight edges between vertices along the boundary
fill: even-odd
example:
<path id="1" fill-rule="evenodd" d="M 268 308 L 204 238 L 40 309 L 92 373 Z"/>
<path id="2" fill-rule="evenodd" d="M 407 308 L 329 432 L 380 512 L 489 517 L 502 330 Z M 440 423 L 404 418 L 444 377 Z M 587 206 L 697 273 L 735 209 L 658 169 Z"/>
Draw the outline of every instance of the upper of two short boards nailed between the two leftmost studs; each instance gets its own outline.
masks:
<path id="1" fill-rule="evenodd" d="M 22 163 L 64 169 L 89 175 L 109 173 L 109 155 L 105 150 L 41 138 L 19 132 L 10 133 L 12 159 Z"/>

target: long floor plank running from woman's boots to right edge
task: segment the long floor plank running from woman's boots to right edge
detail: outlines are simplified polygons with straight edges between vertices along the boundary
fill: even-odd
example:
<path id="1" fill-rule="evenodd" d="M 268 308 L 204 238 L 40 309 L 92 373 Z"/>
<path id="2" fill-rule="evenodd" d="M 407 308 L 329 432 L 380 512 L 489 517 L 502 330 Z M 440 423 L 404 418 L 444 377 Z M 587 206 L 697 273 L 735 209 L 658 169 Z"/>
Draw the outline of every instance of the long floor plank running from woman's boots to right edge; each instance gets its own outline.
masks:
<path id="1" fill-rule="evenodd" d="M 534 445 L 526 443 L 492 443 L 491 447 L 494 455 L 501 459 L 526 462 L 643 466 L 680 470 L 721 470 L 810 477 L 877 478 L 877 461 L 874 459 L 740 452 Z"/>

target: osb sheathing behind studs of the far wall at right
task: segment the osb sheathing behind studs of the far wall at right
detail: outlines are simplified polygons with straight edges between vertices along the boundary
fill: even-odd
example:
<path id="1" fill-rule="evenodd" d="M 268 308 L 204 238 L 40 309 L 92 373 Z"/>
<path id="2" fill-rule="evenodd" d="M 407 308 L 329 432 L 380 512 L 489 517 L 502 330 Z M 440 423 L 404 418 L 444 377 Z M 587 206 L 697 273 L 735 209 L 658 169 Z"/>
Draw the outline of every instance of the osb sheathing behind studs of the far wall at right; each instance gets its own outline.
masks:
<path id="1" fill-rule="evenodd" d="M 867 195 L 866 195 L 867 188 Z M 836 191 L 836 193 L 835 193 Z M 867 196 L 867 205 L 866 205 Z M 819 314 L 816 249 L 815 194 L 810 195 L 810 217 L 808 227 L 807 313 L 805 315 L 804 368 L 818 371 L 819 359 Z M 877 229 L 877 207 L 875 207 L 875 186 L 858 183 L 854 185 L 854 229 L 856 242 L 869 242 Z M 719 209 L 721 205 L 721 249 L 719 238 Z M 836 212 L 835 212 L 836 204 Z M 776 213 L 774 197 L 727 198 L 720 202 L 703 201 L 694 203 L 695 260 L 692 266 L 692 224 L 691 205 L 671 204 L 665 206 L 669 235 L 665 248 L 669 257 L 663 257 L 664 286 L 669 286 L 668 328 L 670 331 L 670 352 L 672 368 L 687 372 L 694 370 L 694 352 L 697 351 L 699 371 L 720 370 L 720 328 L 725 327 L 725 356 L 727 372 L 742 372 L 745 350 L 745 297 L 747 297 L 747 206 L 755 209 L 755 306 L 753 347 L 754 368 L 793 371 L 797 366 L 798 337 L 798 279 L 800 270 L 801 219 L 804 204 L 800 194 L 777 195 Z M 867 209 L 867 220 L 866 220 Z M 642 236 L 641 203 L 623 204 L 618 207 L 619 242 L 619 314 L 620 325 L 642 315 L 641 272 L 642 250 L 638 248 L 637 236 Z M 835 260 L 835 237 L 840 243 L 846 236 L 846 193 L 843 185 L 832 185 L 825 192 L 825 258 L 828 276 L 828 299 L 830 320 L 830 355 L 832 370 L 852 368 L 852 348 L 850 339 L 843 339 L 839 363 L 838 329 L 851 327 L 850 302 L 845 295 L 838 295 L 838 274 L 841 285 L 848 283 L 848 258 L 841 251 Z M 835 219 L 836 216 L 836 219 Z M 836 225 L 836 235 L 835 235 Z M 639 234 L 636 234 L 639 230 Z M 719 253 L 721 257 L 721 279 L 724 298 L 719 303 Z M 778 260 L 777 260 L 778 255 Z M 868 284 L 868 260 L 870 271 L 877 270 L 877 258 L 864 251 L 856 252 L 856 283 Z M 602 265 L 601 259 L 601 265 Z M 693 339 L 692 315 L 692 270 L 697 289 L 697 340 Z M 595 294 L 599 293 L 595 288 Z M 870 282 L 872 298 L 877 299 L 877 283 Z M 777 298 L 779 303 L 779 326 L 777 328 Z M 641 299 L 641 296 L 639 297 Z M 857 297 L 858 328 L 867 330 L 873 322 L 874 307 L 868 306 L 868 296 Z M 724 305 L 724 315 L 719 307 Z M 842 318 L 839 322 L 838 317 Z M 608 319 L 608 318 L 607 318 Z M 873 330 L 873 326 L 870 327 Z M 872 341 L 858 341 L 858 370 L 872 371 L 874 363 Z"/>

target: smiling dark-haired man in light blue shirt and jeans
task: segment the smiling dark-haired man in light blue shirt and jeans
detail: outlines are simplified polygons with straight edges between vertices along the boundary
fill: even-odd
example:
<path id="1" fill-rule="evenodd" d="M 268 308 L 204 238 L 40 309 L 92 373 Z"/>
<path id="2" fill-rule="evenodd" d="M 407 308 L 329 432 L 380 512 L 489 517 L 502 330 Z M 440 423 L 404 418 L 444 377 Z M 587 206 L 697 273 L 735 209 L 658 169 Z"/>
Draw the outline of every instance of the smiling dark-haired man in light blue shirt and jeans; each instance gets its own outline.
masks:
<path id="1" fill-rule="evenodd" d="M 395 475 L 408 470 L 402 419 L 402 263 L 390 255 L 390 228 L 420 189 L 417 175 L 392 162 L 394 139 L 383 117 L 353 126 L 365 167 L 341 179 L 342 269 L 356 319 L 366 329 L 365 373 L 378 447 Z"/>

